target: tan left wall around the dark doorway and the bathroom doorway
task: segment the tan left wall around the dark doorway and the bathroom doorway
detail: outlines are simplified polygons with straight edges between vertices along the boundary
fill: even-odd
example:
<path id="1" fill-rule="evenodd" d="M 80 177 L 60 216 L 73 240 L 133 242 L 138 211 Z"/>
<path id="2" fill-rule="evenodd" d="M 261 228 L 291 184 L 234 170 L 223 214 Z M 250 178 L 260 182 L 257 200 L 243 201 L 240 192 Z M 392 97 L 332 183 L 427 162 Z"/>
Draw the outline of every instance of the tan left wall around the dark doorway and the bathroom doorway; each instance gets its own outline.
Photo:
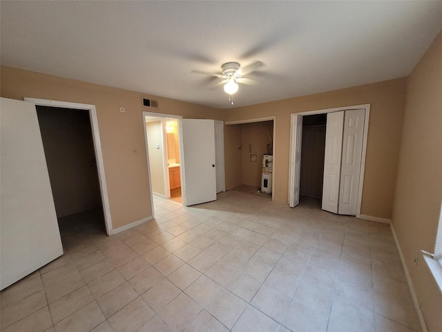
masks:
<path id="1" fill-rule="evenodd" d="M 94 104 L 102 143 L 113 228 L 151 216 L 151 197 L 142 118 L 142 93 L 45 75 L 18 68 L 1 67 L 1 96 Z M 155 98 L 155 96 L 146 96 Z M 223 120 L 219 110 L 166 98 L 155 98 L 157 113 L 184 118 Z M 126 113 L 120 113 L 125 107 Z M 149 110 L 152 111 L 152 110 Z M 132 154 L 136 147 L 138 154 Z"/>

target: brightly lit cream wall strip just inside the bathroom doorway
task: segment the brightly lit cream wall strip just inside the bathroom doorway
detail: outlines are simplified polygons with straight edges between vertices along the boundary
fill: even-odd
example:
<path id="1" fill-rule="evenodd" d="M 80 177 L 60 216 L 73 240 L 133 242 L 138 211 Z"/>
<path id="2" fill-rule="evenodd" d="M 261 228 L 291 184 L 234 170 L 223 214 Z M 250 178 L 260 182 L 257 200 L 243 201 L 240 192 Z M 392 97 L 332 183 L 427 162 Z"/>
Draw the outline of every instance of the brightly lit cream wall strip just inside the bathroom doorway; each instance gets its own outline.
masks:
<path id="1" fill-rule="evenodd" d="M 147 147 L 149 153 L 149 169 L 151 170 L 152 192 L 163 196 L 164 189 L 164 160 L 162 147 L 162 124 L 160 121 L 146 123 Z M 155 145 L 159 145 L 157 149 Z"/>

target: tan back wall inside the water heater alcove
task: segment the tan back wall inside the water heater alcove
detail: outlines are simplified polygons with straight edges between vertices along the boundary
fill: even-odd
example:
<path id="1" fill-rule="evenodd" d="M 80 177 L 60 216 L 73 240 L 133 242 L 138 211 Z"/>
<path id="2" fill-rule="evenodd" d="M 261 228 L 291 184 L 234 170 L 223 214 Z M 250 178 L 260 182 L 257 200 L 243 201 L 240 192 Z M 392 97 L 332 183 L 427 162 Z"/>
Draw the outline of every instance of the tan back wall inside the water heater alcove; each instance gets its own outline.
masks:
<path id="1" fill-rule="evenodd" d="M 242 184 L 261 187 L 262 156 L 267 154 L 267 144 L 271 145 L 269 133 L 273 137 L 273 121 L 233 125 L 241 127 Z M 257 155 L 256 163 L 250 161 L 251 154 Z"/>

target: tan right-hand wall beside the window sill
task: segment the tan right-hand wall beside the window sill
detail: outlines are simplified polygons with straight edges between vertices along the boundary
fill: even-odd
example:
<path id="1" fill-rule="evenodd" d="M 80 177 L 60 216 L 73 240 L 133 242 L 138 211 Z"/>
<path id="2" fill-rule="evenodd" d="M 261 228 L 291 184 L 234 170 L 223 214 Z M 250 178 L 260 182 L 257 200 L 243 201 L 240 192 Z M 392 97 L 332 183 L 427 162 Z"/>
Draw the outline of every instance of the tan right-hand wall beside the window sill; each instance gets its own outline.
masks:
<path id="1" fill-rule="evenodd" d="M 408 78 L 392 225 L 429 331 L 441 331 L 442 294 L 421 255 L 434 252 L 442 201 L 442 33 Z"/>

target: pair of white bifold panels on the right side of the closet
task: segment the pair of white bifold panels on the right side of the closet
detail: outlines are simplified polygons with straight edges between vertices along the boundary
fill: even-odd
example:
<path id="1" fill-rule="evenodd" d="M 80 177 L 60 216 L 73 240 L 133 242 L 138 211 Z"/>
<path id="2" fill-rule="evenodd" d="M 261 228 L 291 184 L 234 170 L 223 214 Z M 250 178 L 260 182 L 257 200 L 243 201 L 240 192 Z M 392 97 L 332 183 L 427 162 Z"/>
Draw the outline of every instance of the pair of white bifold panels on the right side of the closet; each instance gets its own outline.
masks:
<path id="1" fill-rule="evenodd" d="M 364 121 L 363 109 L 327 114 L 323 210 L 356 214 Z"/>

